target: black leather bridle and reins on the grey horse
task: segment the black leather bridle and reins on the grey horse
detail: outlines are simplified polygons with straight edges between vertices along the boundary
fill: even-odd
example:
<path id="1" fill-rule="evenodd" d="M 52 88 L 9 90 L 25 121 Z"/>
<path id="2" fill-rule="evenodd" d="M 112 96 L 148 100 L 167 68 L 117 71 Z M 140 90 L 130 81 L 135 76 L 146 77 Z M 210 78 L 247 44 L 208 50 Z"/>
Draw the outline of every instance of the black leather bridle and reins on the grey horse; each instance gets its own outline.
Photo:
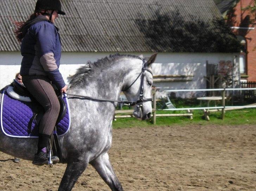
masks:
<path id="1" fill-rule="evenodd" d="M 84 96 L 84 95 L 76 95 L 76 94 L 69 94 L 66 93 L 67 95 L 72 95 L 74 97 L 68 97 L 68 99 L 90 99 L 90 100 L 96 100 L 96 101 L 110 101 L 110 102 L 117 102 L 117 103 L 122 103 L 122 104 L 128 104 L 129 106 L 134 106 L 137 105 L 137 107 L 142 107 L 142 103 L 146 102 L 146 101 L 152 101 L 152 98 L 146 98 L 143 99 L 143 92 L 144 92 L 144 79 L 145 79 L 145 71 L 147 70 L 148 72 L 150 72 L 152 75 L 152 71 L 149 70 L 146 67 L 146 60 L 142 59 L 143 64 L 142 64 L 142 69 L 141 69 L 141 73 L 138 75 L 138 77 L 134 80 L 134 82 L 128 87 L 126 88 L 126 90 L 122 90 L 122 91 L 127 91 L 129 90 L 129 88 L 137 81 L 137 79 L 141 76 L 141 84 L 140 84 L 140 97 L 137 101 L 122 101 L 122 100 L 113 100 L 113 99 L 105 99 L 105 98 L 96 98 L 96 97 L 89 97 L 89 96 Z"/>

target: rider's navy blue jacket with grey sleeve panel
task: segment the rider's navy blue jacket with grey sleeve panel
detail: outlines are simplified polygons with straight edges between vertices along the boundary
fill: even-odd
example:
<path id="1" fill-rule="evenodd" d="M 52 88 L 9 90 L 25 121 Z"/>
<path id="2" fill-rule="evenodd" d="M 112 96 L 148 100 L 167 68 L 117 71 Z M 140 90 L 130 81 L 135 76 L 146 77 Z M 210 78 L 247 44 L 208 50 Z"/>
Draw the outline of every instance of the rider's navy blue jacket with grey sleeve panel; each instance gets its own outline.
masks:
<path id="1" fill-rule="evenodd" d="M 39 15 L 38 17 L 44 17 Z M 65 86 L 59 72 L 61 42 L 58 28 L 49 20 L 31 25 L 21 41 L 20 75 L 47 75 L 61 89 Z"/>

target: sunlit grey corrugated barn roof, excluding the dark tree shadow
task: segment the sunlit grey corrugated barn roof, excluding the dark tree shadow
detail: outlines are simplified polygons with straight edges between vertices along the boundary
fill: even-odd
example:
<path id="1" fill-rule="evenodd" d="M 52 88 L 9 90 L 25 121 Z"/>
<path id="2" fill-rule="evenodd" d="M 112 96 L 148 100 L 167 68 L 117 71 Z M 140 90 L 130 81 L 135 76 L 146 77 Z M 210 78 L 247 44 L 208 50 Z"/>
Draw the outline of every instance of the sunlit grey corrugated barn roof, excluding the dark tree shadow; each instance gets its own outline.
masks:
<path id="1" fill-rule="evenodd" d="M 0 4 L 0 51 L 19 51 L 9 18 L 25 21 L 34 11 L 36 0 L 1 0 Z M 151 46 L 136 21 L 155 20 L 157 10 L 170 17 L 175 17 L 173 11 L 179 11 L 186 21 L 209 21 L 221 16 L 211 0 L 65 0 L 62 9 L 66 15 L 59 15 L 56 26 L 64 52 L 156 51 L 158 42 Z M 169 50 L 159 46 L 157 51 Z"/>

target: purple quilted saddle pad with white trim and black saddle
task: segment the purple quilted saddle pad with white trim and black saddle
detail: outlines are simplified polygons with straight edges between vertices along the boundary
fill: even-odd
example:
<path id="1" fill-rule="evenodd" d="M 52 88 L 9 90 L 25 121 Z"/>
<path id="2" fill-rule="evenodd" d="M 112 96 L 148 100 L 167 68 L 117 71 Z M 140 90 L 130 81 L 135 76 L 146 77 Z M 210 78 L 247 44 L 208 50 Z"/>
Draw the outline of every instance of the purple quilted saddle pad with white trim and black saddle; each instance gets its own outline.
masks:
<path id="1" fill-rule="evenodd" d="M 25 98 L 25 100 L 24 100 Z M 66 95 L 60 101 L 60 113 L 56 123 L 56 134 L 66 134 L 70 127 L 69 105 Z M 1 129 L 17 138 L 37 138 L 44 108 L 30 95 L 25 86 L 17 81 L 3 91 L 1 100 Z"/>

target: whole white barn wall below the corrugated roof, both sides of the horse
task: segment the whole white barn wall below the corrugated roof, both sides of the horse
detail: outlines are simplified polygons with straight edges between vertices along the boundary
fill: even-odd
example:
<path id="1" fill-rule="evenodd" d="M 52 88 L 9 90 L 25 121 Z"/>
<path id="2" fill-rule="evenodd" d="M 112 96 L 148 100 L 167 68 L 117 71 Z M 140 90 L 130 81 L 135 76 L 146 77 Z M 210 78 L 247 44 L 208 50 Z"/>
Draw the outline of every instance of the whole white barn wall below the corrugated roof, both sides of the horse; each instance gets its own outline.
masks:
<path id="1" fill-rule="evenodd" d="M 66 83 L 69 82 L 69 76 L 74 74 L 76 69 L 87 63 L 88 60 L 96 61 L 111 52 L 105 53 L 62 53 L 59 70 Z M 149 57 L 152 53 L 128 53 Z M 232 53 L 159 53 L 155 63 L 152 65 L 154 75 L 182 74 L 194 75 L 192 81 L 181 82 L 161 82 L 154 83 L 156 87 L 169 87 L 167 89 L 199 89 L 206 87 L 206 60 L 209 63 L 218 63 L 220 60 L 234 60 L 236 54 Z M 0 52 L 0 88 L 11 83 L 15 74 L 19 72 L 22 56 L 20 52 Z M 235 60 L 235 75 L 238 80 L 238 57 Z M 162 88 L 162 90 L 164 90 Z M 200 92 L 199 92 L 200 94 Z M 160 92 L 158 95 L 165 95 Z M 191 92 L 183 93 L 181 97 L 191 97 Z"/>

